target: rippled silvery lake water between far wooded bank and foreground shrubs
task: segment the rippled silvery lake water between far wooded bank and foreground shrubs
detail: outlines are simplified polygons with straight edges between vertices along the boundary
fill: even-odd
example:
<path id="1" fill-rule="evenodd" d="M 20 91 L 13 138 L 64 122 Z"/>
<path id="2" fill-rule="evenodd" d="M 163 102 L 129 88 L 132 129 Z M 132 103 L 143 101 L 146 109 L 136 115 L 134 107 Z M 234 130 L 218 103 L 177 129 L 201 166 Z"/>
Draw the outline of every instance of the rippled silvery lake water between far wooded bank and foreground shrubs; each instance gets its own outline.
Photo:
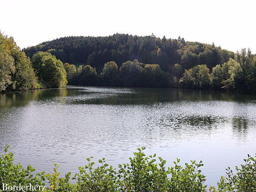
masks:
<path id="1" fill-rule="evenodd" d="M 200 90 L 67 87 L 0 94 L 0 150 L 38 171 L 86 157 L 128 163 L 136 148 L 168 166 L 203 160 L 206 183 L 256 153 L 256 97 Z M 16 161 L 16 162 L 17 162 Z"/>

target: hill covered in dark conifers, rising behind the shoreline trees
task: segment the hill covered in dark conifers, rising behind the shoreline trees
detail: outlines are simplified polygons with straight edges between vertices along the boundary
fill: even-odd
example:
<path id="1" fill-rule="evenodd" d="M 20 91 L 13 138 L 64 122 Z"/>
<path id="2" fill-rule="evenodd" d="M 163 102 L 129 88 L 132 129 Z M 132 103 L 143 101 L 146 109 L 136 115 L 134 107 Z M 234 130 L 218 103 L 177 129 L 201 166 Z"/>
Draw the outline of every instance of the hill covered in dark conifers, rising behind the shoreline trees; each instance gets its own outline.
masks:
<path id="1" fill-rule="evenodd" d="M 50 52 L 62 62 L 90 64 L 98 71 L 108 61 L 120 67 L 125 61 L 138 59 L 142 63 L 159 64 L 164 71 L 176 63 L 184 69 L 206 64 L 210 69 L 234 58 L 234 52 L 214 44 L 186 42 L 183 38 L 166 39 L 150 36 L 114 34 L 108 37 L 64 37 L 23 49 L 27 56 L 38 51 Z"/>

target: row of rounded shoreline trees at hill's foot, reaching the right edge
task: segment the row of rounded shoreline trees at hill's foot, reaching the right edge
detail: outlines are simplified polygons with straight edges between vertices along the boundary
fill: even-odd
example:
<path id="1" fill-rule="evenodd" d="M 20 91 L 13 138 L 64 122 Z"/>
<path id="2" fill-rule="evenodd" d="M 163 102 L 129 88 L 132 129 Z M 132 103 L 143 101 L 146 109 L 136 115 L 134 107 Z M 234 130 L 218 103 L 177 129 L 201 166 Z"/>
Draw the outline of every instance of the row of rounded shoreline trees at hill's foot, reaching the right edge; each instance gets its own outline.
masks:
<path id="1" fill-rule="evenodd" d="M 183 69 L 174 64 L 165 72 L 158 64 L 143 64 L 137 59 L 125 61 L 121 67 L 114 61 L 104 64 L 102 72 L 90 65 L 65 63 L 69 84 L 127 87 L 185 87 L 256 92 L 256 56 L 250 49 L 242 49 L 234 58 L 212 69 L 206 64 Z"/>

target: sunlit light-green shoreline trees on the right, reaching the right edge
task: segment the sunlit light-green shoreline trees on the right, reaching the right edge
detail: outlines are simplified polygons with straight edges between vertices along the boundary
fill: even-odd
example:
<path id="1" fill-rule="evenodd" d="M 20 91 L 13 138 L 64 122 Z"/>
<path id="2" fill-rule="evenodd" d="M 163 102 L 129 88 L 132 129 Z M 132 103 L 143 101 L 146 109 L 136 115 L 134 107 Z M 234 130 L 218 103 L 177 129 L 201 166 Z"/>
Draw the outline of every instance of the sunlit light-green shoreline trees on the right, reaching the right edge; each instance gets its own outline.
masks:
<path id="1" fill-rule="evenodd" d="M 211 71 L 211 73 L 210 73 Z M 185 70 L 180 85 L 186 88 L 233 90 L 256 93 L 256 56 L 248 49 L 237 52 L 235 59 L 218 64 L 210 70 L 197 65 Z"/>

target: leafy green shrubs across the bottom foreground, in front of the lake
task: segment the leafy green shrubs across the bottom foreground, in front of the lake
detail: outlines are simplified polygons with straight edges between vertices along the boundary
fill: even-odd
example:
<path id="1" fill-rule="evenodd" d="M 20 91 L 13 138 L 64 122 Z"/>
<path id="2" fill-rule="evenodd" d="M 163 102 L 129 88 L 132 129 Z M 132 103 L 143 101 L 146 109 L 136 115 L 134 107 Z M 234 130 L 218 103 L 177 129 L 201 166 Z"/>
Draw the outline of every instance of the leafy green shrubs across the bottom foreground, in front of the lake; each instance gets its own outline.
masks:
<path id="1" fill-rule="evenodd" d="M 100 166 L 95 167 L 93 157 L 87 158 L 87 164 L 79 167 L 79 172 L 71 176 L 68 172 L 60 177 L 58 165 L 54 164 L 52 173 L 32 173 L 35 169 L 28 166 L 22 168 L 13 163 L 13 154 L 8 153 L 6 146 L 0 157 L 0 186 L 43 186 L 46 192 L 205 192 L 205 176 L 201 174 L 202 161 L 191 161 L 180 166 L 180 160 L 174 161 L 174 166 L 166 168 L 166 160 L 156 159 L 156 154 L 146 156 L 143 148 L 134 152 L 130 163 L 120 164 L 118 169 L 109 166 L 105 159 L 99 160 Z M 221 177 L 218 188 L 210 191 L 256 191 L 256 160 L 248 156 L 245 165 L 236 167 L 237 173 L 228 168 L 227 176 Z M 70 183 L 70 180 L 75 182 Z M 0 189 L 1 191 L 2 189 Z M 29 192 L 29 190 L 26 190 Z"/>

